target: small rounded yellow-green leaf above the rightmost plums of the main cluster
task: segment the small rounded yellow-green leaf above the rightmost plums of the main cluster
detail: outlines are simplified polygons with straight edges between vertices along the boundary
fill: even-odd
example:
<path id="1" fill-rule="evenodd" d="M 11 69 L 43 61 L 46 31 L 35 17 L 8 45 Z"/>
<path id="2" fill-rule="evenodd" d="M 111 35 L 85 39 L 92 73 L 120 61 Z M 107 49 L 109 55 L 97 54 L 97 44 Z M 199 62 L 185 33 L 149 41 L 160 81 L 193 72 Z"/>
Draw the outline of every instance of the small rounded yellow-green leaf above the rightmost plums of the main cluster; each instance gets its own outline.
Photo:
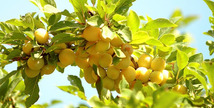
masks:
<path id="1" fill-rule="evenodd" d="M 165 45 L 172 45 L 173 43 L 175 43 L 175 35 L 173 35 L 173 34 L 164 34 L 160 38 L 160 41 Z"/>

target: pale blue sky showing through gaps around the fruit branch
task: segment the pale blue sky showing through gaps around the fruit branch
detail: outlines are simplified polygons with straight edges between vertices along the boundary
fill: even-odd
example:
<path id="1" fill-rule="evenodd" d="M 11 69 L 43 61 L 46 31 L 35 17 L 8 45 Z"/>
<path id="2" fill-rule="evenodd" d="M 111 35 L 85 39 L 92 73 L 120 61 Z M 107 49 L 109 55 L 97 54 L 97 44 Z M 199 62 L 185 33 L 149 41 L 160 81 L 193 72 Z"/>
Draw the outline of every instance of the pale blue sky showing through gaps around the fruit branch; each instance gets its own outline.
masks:
<path id="1" fill-rule="evenodd" d="M 59 10 L 68 9 L 73 11 L 69 0 L 55 0 Z M 90 1 L 90 0 L 88 0 Z M 39 9 L 30 3 L 28 0 L 2 0 L 0 6 L 0 21 L 6 21 L 12 18 L 19 18 L 27 12 L 39 12 Z M 205 45 L 206 40 L 213 40 L 213 38 L 203 35 L 203 32 L 210 29 L 209 16 L 212 15 L 203 0 L 136 0 L 131 7 L 138 15 L 150 16 L 156 18 L 168 18 L 175 9 L 181 9 L 184 16 L 198 15 L 200 18 L 189 26 L 185 27 L 184 31 L 189 32 L 194 41 L 192 47 L 197 48 L 198 53 L 203 53 L 204 58 L 211 58 L 209 56 L 208 47 Z M 213 57 L 212 57 L 213 58 Z M 12 65 L 14 67 L 14 64 Z M 7 69 L 13 70 L 14 68 Z M 67 75 L 79 75 L 77 67 L 68 67 L 64 74 L 54 72 L 51 75 L 44 76 L 40 81 L 40 99 L 38 104 L 50 102 L 52 99 L 62 100 L 62 104 L 58 104 L 52 108 L 65 107 L 66 105 L 78 105 L 84 103 L 78 97 L 69 95 L 66 92 L 59 90 L 56 86 L 69 85 Z M 89 84 L 82 80 L 88 99 L 97 94 L 95 89 L 92 89 Z"/>

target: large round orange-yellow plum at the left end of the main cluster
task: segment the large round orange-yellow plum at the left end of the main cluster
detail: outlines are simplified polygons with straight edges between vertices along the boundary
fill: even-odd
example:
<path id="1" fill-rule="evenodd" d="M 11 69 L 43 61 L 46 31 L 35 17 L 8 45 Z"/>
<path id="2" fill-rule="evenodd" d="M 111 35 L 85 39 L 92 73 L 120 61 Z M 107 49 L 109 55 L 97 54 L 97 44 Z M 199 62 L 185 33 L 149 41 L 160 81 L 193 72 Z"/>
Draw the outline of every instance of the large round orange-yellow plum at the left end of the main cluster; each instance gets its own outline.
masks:
<path id="1" fill-rule="evenodd" d="M 59 53 L 59 61 L 63 65 L 71 65 L 74 63 L 75 55 L 73 50 L 64 49 Z"/>

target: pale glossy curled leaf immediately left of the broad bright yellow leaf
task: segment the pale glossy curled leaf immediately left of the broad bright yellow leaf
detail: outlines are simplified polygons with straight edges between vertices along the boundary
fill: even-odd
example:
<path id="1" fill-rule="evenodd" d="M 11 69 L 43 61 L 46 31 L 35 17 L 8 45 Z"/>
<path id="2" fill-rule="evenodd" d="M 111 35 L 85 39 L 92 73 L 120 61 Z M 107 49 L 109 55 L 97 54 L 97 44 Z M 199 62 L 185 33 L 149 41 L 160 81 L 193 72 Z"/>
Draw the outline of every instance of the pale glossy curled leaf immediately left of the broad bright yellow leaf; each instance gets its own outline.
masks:
<path id="1" fill-rule="evenodd" d="M 129 27 L 123 27 L 118 31 L 118 33 L 121 35 L 120 37 L 125 41 L 125 42 L 131 42 L 132 41 L 132 33 L 129 29 Z"/>

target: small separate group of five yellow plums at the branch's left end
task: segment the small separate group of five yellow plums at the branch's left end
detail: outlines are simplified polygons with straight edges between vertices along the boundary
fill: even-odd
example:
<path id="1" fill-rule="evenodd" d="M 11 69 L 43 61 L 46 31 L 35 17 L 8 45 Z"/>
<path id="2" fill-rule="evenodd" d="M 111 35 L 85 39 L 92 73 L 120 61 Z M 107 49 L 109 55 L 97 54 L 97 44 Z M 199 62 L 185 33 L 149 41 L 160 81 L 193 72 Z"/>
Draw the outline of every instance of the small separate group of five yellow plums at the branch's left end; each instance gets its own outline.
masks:
<path id="1" fill-rule="evenodd" d="M 48 42 L 49 34 L 45 29 L 39 28 L 34 33 L 35 39 L 39 44 L 45 44 Z M 31 55 L 33 51 L 39 50 L 39 47 L 33 47 L 30 39 L 25 41 L 22 47 L 23 52 L 26 55 Z M 56 66 L 46 63 L 45 59 L 41 56 L 39 58 L 29 57 L 27 60 L 27 67 L 25 68 L 25 74 L 29 78 L 33 78 L 39 75 L 51 74 L 54 72 Z"/>

